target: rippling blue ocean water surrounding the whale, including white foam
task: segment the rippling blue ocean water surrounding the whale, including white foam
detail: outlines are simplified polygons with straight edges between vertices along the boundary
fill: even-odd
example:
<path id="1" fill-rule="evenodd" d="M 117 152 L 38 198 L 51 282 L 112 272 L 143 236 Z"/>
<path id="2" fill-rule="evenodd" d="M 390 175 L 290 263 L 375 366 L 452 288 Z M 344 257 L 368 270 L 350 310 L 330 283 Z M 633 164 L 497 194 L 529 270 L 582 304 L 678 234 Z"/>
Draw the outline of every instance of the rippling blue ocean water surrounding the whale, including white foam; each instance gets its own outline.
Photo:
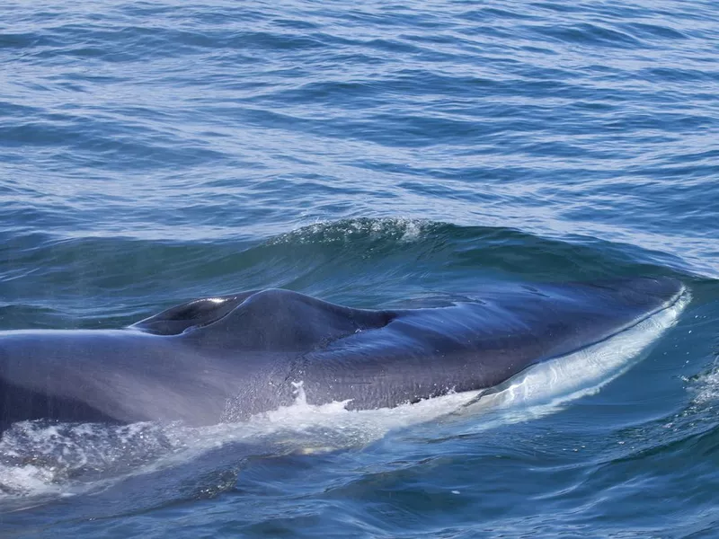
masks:
<path id="1" fill-rule="evenodd" d="M 635 275 L 539 399 L 17 425 L 2 537 L 719 536 L 719 5 L 0 5 L 0 330 Z"/>

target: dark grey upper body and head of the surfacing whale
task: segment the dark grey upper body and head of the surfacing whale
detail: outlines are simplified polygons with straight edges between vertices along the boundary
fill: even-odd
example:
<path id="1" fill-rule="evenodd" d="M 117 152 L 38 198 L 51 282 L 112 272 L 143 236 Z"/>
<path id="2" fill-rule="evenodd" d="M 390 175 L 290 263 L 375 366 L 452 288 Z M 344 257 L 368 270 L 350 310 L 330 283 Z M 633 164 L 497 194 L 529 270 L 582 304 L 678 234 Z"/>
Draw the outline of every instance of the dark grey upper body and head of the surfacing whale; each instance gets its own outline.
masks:
<path id="1" fill-rule="evenodd" d="M 242 420 L 288 405 L 392 407 L 493 387 L 673 305 L 671 278 L 504 284 L 370 311 L 270 289 L 199 299 L 121 330 L 0 331 L 0 429 L 20 420 Z"/>

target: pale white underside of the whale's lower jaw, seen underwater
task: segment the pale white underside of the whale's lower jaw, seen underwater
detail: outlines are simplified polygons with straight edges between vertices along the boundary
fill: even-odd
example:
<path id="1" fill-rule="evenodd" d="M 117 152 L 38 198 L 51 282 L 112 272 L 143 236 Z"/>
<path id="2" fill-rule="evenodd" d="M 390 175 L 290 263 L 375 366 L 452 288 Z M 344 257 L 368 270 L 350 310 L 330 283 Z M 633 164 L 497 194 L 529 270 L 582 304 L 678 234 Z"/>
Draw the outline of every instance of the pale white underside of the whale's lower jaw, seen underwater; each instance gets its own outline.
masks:
<path id="1" fill-rule="evenodd" d="M 664 308 L 639 323 L 607 340 L 528 367 L 506 382 L 480 391 L 471 406 L 473 409 L 554 406 L 597 393 L 643 358 L 661 335 L 677 323 L 690 301 L 691 294 L 682 287 Z"/>

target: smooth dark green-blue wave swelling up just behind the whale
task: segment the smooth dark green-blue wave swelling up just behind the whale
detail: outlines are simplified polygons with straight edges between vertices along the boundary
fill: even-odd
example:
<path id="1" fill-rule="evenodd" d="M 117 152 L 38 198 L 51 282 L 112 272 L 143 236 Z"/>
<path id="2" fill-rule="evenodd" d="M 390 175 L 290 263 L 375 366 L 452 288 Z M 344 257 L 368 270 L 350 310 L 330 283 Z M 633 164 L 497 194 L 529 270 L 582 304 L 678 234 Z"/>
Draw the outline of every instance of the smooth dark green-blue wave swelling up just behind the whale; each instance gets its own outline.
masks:
<path id="1" fill-rule="evenodd" d="M 15 234 L 0 246 L 0 316 L 4 329 L 111 327 L 193 297 L 267 287 L 354 306 L 413 305 L 503 280 L 693 279 L 680 266 L 592 237 L 403 218 L 317 223 L 259 242 Z"/>

